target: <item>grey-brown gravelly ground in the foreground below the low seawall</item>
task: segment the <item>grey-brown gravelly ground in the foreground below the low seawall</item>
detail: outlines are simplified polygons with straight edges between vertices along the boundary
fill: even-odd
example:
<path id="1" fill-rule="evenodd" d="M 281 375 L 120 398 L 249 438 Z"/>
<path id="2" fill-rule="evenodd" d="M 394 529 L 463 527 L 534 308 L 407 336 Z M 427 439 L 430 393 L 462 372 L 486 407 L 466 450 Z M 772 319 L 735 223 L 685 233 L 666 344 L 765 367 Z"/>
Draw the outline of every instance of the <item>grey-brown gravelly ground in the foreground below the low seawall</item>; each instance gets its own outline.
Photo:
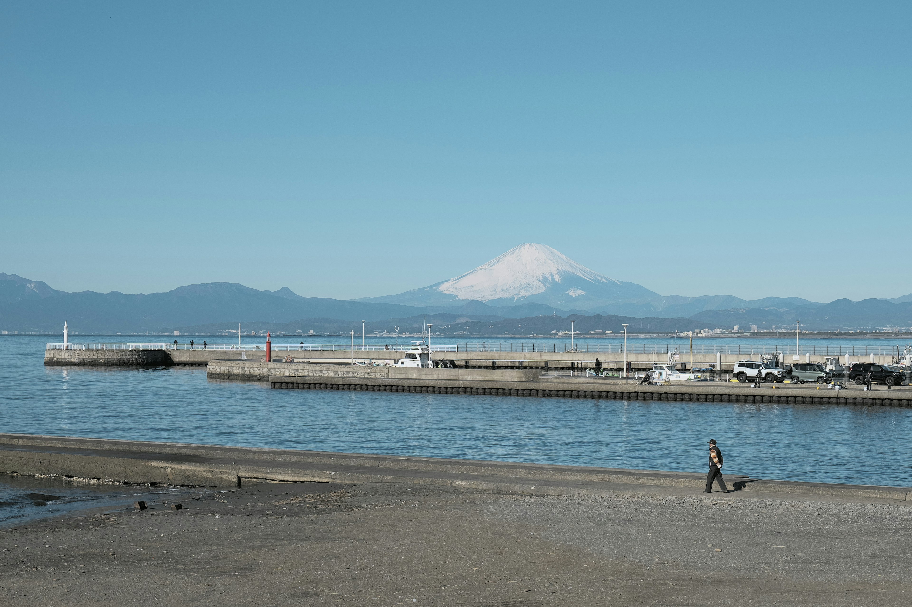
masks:
<path id="1" fill-rule="evenodd" d="M 907 502 L 259 483 L 0 530 L 4 605 L 907 605 Z M 735 497 L 736 496 L 736 497 Z"/>

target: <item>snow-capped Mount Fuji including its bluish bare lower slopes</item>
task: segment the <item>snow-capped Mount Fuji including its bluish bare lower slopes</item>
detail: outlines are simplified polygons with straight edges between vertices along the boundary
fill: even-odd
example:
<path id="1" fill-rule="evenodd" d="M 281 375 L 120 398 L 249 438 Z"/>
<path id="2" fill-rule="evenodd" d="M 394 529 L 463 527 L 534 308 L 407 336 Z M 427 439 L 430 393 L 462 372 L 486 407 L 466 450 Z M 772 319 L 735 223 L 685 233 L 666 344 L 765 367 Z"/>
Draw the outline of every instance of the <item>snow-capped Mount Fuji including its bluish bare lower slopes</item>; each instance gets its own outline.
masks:
<path id="1" fill-rule="evenodd" d="M 568 310 L 658 296 L 639 284 L 593 272 L 547 245 L 526 243 L 448 281 L 358 301 L 453 305 L 474 300 L 494 306 L 534 303 Z"/>

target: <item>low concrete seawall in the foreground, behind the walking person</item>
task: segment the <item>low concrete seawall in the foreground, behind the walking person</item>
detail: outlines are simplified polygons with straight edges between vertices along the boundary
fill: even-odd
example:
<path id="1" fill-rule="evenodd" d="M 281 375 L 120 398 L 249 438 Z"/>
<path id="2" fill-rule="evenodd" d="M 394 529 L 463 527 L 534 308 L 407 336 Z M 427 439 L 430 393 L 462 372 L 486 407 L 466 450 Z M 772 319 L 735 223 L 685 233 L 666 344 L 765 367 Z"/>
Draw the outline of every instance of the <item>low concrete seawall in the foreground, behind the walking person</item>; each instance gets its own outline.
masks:
<path id="1" fill-rule="evenodd" d="M 0 434 L 0 473 L 100 482 L 238 487 L 246 481 L 412 483 L 530 495 L 607 495 L 618 489 L 700 489 L 705 474 L 232 448 L 99 438 Z M 906 500 L 912 489 L 766 480 L 726 474 L 742 491 Z"/>

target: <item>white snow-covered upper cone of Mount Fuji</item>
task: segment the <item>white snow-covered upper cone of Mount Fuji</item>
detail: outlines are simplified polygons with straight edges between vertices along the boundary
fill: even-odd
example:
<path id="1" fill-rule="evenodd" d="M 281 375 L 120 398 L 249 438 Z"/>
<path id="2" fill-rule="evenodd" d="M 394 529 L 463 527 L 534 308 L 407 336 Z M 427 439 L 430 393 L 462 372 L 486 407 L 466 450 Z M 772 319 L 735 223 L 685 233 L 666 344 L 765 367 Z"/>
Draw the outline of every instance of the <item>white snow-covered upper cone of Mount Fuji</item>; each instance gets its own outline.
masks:
<path id="1" fill-rule="evenodd" d="M 571 276 L 577 279 L 575 282 L 582 278 L 589 283 L 620 284 L 589 270 L 545 244 L 527 242 L 478 266 L 472 272 L 440 283 L 438 289 L 440 293 L 449 293 L 458 299 L 482 302 L 506 298 L 516 300 L 544 293 L 554 283 L 563 284 Z M 576 284 L 567 286 L 571 288 L 565 290 L 565 293 L 571 296 L 586 293 Z"/>

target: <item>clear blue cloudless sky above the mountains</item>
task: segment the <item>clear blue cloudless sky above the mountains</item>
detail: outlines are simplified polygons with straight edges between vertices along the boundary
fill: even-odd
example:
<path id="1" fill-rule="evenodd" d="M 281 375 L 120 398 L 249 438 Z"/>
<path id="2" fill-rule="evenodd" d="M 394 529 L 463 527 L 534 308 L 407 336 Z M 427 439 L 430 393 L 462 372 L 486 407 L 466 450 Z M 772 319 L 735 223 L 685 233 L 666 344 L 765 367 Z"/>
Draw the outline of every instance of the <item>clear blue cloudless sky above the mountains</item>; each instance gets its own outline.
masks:
<path id="1" fill-rule="evenodd" d="M 543 242 L 663 294 L 896 297 L 910 22 L 907 2 L 6 1 L 0 272 L 354 298 Z"/>

